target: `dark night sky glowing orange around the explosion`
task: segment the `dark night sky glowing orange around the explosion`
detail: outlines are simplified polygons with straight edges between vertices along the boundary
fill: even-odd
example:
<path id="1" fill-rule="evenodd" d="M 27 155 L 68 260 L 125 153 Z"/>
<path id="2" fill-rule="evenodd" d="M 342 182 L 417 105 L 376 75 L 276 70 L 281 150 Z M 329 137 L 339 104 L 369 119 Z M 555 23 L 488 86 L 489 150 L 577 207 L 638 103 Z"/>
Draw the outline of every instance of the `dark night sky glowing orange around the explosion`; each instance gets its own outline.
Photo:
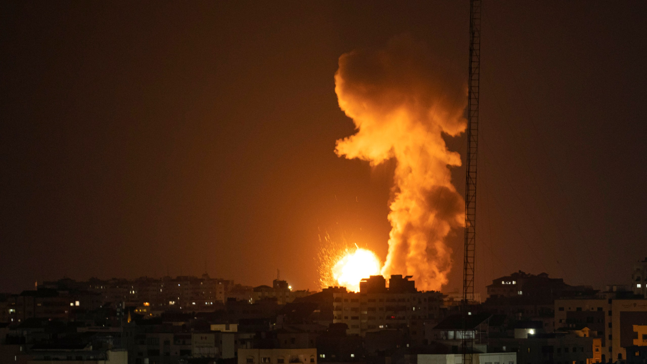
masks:
<path id="1" fill-rule="evenodd" d="M 484 3 L 477 287 L 626 283 L 647 256 L 647 3 Z M 326 231 L 386 256 L 393 165 L 334 154 L 337 60 L 406 33 L 467 71 L 468 1 L 187 4 L 0 5 L 0 291 L 205 266 L 313 289 Z"/>

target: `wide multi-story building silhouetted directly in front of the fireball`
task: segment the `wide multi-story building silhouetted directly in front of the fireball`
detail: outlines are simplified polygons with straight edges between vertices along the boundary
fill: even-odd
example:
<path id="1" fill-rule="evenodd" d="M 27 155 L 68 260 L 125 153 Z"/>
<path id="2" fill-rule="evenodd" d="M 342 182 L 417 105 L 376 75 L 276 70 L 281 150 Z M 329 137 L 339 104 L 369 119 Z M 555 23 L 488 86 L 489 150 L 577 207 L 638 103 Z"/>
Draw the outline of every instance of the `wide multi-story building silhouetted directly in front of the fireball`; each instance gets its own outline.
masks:
<path id="1" fill-rule="evenodd" d="M 391 275 L 387 288 L 386 279 L 374 275 L 362 280 L 357 293 L 333 293 L 333 323 L 347 324 L 349 335 L 395 328 L 424 340 L 423 324 L 439 318 L 443 294 L 417 291 L 410 278 Z"/>

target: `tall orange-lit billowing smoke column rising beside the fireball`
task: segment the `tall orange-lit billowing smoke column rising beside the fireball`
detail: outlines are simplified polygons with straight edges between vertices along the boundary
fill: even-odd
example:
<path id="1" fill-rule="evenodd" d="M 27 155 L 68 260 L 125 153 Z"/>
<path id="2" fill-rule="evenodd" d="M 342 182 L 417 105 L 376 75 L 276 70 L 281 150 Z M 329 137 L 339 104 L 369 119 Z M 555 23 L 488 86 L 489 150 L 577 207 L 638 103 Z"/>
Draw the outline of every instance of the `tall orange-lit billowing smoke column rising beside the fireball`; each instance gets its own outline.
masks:
<path id="1" fill-rule="evenodd" d="M 336 154 L 373 166 L 397 161 L 382 275 L 413 275 L 419 289 L 439 290 L 451 269 L 445 238 L 465 223 L 449 169 L 461 158 L 442 136 L 465 130 L 465 77 L 421 43 L 399 37 L 386 49 L 342 55 L 334 79 L 339 106 L 357 130 L 336 142 Z"/>

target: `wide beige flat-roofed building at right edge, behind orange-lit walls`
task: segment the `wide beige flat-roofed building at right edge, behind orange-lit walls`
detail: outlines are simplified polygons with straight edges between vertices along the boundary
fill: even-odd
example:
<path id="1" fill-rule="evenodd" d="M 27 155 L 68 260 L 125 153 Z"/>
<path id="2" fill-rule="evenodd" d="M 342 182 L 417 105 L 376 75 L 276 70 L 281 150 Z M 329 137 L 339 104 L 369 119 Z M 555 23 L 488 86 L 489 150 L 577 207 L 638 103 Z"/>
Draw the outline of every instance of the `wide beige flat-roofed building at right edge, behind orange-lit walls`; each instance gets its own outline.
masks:
<path id="1" fill-rule="evenodd" d="M 626 359 L 626 347 L 647 325 L 647 299 L 558 299 L 555 301 L 556 328 L 587 327 L 598 332 L 602 361 Z"/>

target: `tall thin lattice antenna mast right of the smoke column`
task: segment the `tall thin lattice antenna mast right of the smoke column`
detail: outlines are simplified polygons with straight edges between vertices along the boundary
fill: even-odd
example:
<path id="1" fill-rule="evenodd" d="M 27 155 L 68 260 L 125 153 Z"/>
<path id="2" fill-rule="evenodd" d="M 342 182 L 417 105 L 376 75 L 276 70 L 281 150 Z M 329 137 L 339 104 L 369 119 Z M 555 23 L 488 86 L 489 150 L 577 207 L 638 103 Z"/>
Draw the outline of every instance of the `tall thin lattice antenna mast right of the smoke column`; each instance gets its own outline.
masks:
<path id="1" fill-rule="evenodd" d="M 465 256 L 463 257 L 463 364 L 472 364 L 474 335 L 468 327 L 474 301 L 474 245 L 476 243 L 476 161 L 479 131 L 479 74 L 481 61 L 481 0 L 470 0 L 470 69 L 467 94 L 467 162 L 465 174 Z M 469 332 L 468 332 L 469 330 Z"/>

